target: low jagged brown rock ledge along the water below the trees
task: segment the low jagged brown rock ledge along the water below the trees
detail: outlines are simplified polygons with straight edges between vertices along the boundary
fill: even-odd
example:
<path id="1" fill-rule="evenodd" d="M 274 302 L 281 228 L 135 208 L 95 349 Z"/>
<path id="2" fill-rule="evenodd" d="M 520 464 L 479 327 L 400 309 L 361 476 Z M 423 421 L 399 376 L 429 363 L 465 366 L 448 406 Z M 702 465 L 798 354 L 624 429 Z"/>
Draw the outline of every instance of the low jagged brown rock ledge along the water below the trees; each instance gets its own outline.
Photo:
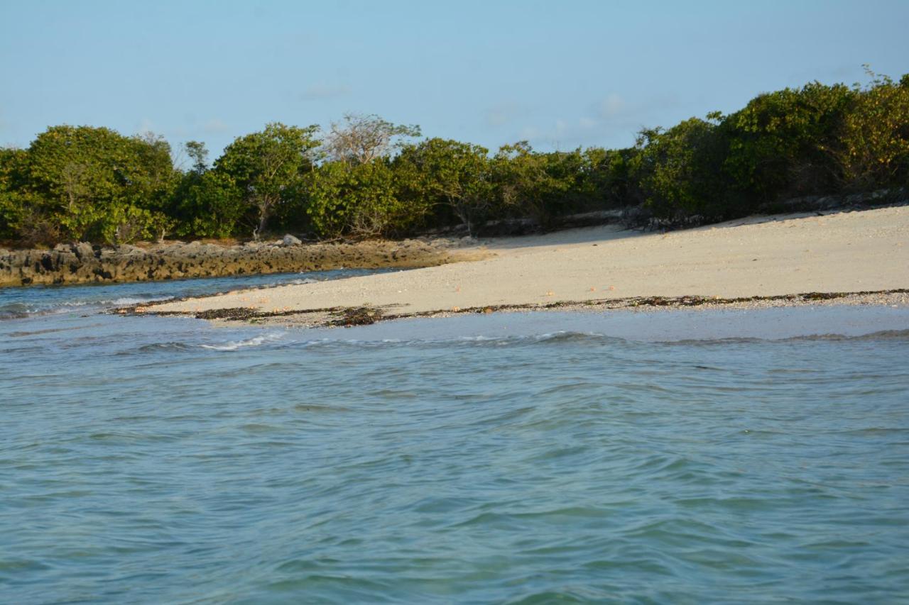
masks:
<path id="1" fill-rule="evenodd" d="M 296 238 L 294 238 L 296 239 Z M 0 249 L 0 286 L 120 283 L 340 268 L 415 268 L 446 263 L 446 242 L 315 243 L 287 238 L 224 246 L 162 243 L 139 247 L 58 244 L 53 250 Z"/>

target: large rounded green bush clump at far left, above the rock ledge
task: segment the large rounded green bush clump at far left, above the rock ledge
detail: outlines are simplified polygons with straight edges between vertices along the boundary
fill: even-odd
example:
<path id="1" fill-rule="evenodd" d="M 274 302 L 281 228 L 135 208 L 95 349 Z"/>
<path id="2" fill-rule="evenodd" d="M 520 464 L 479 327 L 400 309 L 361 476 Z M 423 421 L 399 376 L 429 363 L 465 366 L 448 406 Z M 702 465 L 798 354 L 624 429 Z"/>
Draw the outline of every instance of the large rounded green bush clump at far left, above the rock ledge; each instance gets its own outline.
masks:
<path id="1" fill-rule="evenodd" d="M 179 174 L 162 139 L 54 126 L 0 160 L 0 232 L 24 243 L 131 242 L 159 237 L 171 223 L 165 211 Z"/>

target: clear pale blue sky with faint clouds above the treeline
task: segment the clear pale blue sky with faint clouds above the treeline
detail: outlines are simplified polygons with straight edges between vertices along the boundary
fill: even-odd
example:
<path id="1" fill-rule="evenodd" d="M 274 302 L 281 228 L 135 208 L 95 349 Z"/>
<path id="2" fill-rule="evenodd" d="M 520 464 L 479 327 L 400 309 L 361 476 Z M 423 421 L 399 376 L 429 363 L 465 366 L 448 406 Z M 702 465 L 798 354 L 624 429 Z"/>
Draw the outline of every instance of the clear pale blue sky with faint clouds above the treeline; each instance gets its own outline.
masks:
<path id="1" fill-rule="evenodd" d="M 203 141 L 345 113 L 626 147 L 755 94 L 909 73 L 909 0 L 0 0 L 0 145 L 49 125 Z"/>

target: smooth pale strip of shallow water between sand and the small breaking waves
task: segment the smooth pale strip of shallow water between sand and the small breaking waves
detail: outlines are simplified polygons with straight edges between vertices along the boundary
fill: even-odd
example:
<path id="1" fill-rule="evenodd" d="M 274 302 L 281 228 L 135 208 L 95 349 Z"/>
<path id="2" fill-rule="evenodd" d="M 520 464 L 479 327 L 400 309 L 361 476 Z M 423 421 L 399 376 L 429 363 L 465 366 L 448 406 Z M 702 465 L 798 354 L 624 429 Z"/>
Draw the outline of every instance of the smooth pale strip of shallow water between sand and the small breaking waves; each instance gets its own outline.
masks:
<path id="1" fill-rule="evenodd" d="M 841 299 L 842 300 L 842 299 Z M 217 324 L 216 324 L 217 325 Z M 219 329 L 243 329 L 227 322 Z M 245 330 L 251 330 L 245 326 Z M 280 336 L 282 342 L 529 342 L 620 339 L 627 342 L 850 340 L 909 338 L 909 306 L 821 304 L 754 308 L 639 307 L 600 311 L 590 307 L 542 312 L 458 313 L 445 319 L 406 318 L 351 329 L 314 326 L 306 330 L 269 325 L 244 332 Z M 232 332 L 235 333 L 235 332 Z M 297 340 L 299 339 L 299 340 Z M 231 341 L 236 342 L 236 340 Z M 391 346 L 395 346 L 392 344 Z"/>

